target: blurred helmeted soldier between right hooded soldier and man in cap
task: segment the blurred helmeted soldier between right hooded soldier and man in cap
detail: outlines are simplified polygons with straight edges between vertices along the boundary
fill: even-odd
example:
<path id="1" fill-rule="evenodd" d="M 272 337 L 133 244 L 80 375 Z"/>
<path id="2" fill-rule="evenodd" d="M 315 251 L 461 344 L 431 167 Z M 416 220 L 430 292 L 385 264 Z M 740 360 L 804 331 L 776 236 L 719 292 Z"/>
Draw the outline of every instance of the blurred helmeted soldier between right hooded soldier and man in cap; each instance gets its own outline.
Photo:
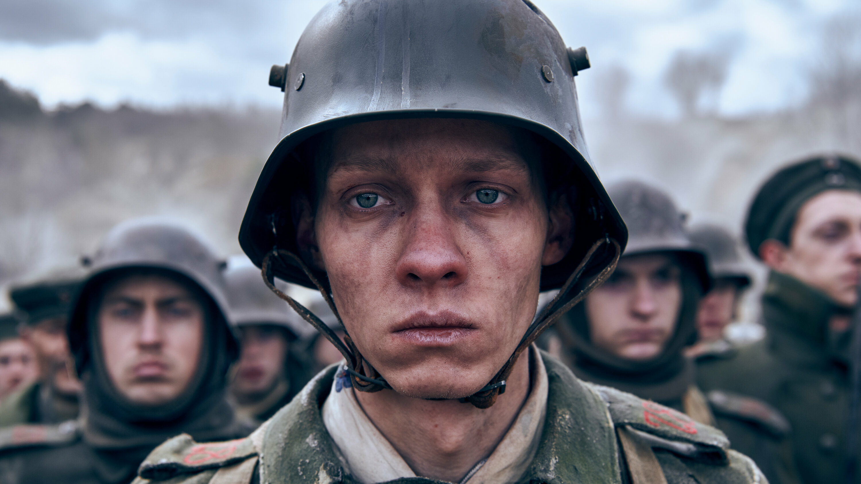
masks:
<path id="1" fill-rule="evenodd" d="M 733 345 L 723 332 L 738 317 L 741 295 L 751 285 L 750 270 L 741 259 L 738 242 L 723 227 L 703 224 L 691 227 L 688 234 L 691 243 L 708 256 L 713 283 L 697 311 L 697 343 L 685 354 L 695 358 L 727 356 Z"/>

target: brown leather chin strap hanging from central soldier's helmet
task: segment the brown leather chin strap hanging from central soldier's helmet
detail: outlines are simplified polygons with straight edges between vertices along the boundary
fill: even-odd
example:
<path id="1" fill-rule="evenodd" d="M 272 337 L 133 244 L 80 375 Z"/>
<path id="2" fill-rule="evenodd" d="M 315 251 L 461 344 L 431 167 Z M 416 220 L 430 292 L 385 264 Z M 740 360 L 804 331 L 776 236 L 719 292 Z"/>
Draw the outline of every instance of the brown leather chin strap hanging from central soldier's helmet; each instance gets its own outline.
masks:
<path id="1" fill-rule="evenodd" d="M 610 245 L 610 247 L 615 251 L 611 263 L 596 276 L 592 276 L 592 278 L 582 286 L 582 289 L 579 290 L 577 295 L 568 298 L 568 292 L 573 289 L 577 282 L 579 282 L 579 278 L 583 274 L 583 271 L 589 263 L 592 262 L 592 258 L 595 257 L 598 249 L 603 245 Z M 571 276 L 568 277 L 565 285 L 560 289 L 559 294 L 553 298 L 553 301 L 550 301 L 548 305 L 544 307 L 538 317 L 533 320 L 530 327 L 527 328 L 526 332 L 523 334 L 523 338 L 520 340 L 520 344 L 517 344 L 517 349 L 511 353 L 511 357 L 508 358 L 508 361 L 505 362 L 502 369 L 499 369 L 499 372 L 497 372 L 493 379 L 487 383 L 484 388 L 481 388 L 474 394 L 459 400 L 461 400 L 462 403 L 471 403 L 478 408 L 489 408 L 492 406 L 496 402 L 499 394 L 505 393 L 505 380 L 509 375 L 511 375 L 511 371 L 514 369 L 514 365 L 517 363 L 517 358 L 520 357 L 521 353 L 523 353 L 526 348 L 529 348 L 530 344 L 532 344 L 536 338 L 544 332 L 544 330 L 554 324 L 562 314 L 567 313 L 572 307 L 577 305 L 577 303 L 583 301 L 585 296 L 588 295 L 592 289 L 595 289 L 604 282 L 604 280 L 612 274 L 613 270 L 616 269 L 616 263 L 618 263 L 621 255 L 622 249 L 616 239 L 604 238 L 593 244 L 592 248 L 586 252 L 583 260 L 580 261 L 577 269 L 575 269 Z M 341 327 L 344 327 L 344 322 L 341 320 L 341 315 L 338 314 L 338 308 L 335 307 L 334 301 L 331 300 L 331 295 L 329 295 L 328 291 L 326 291 L 323 285 L 320 284 L 319 280 L 313 276 L 313 273 L 308 269 L 307 265 L 301 260 L 301 258 L 293 252 L 278 248 L 273 248 L 269 251 L 269 253 L 266 254 L 266 257 L 263 258 L 263 264 L 261 264 L 263 282 L 266 282 L 266 286 L 269 287 L 272 292 L 284 301 L 287 301 L 290 307 L 292 307 L 303 320 L 306 320 L 311 326 L 316 328 L 317 331 L 322 333 L 323 336 L 328 339 L 331 344 L 334 344 L 335 348 L 344 355 L 344 360 L 347 362 L 346 370 L 350 375 L 350 382 L 352 383 L 353 388 L 356 388 L 360 392 L 379 392 L 384 388 L 393 389 L 386 379 L 383 378 L 382 375 L 374 369 L 374 367 L 366 362 L 364 358 L 362 358 L 362 354 L 359 352 L 358 348 L 356 348 L 356 344 L 353 343 L 350 335 L 347 334 L 345 327 L 344 341 L 342 342 L 341 339 L 338 338 L 338 335 L 332 331 L 329 326 L 326 326 L 323 321 L 314 315 L 314 313 L 309 311 L 307 307 L 302 306 L 298 301 L 276 288 L 275 275 L 272 272 L 272 264 L 275 260 L 278 260 L 283 264 L 281 258 L 288 259 L 289 262 L 299 266 L 300 269 L 305 272 L 308 279 L 317 286 L 320 294 L 323 295 L 323 299 L 331 308 L 331 312 L 338 318 L 338 323 L 341 324 Z"/>

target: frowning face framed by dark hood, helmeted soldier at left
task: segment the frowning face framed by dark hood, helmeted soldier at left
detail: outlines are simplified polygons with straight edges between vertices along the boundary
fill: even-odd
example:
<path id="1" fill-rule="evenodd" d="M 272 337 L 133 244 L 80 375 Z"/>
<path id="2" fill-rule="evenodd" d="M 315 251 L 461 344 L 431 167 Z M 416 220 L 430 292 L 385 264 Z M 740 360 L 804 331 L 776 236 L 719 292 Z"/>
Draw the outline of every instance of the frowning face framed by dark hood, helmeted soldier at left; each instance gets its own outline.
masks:
<path id="1" fill-rule="evenodd" d="M 102 360 L 115 388 L 139 405 L 183 393 L 201 355 L 204 312 L 183 284 L 126 276 L 105 290 L 98 311 Z"/>

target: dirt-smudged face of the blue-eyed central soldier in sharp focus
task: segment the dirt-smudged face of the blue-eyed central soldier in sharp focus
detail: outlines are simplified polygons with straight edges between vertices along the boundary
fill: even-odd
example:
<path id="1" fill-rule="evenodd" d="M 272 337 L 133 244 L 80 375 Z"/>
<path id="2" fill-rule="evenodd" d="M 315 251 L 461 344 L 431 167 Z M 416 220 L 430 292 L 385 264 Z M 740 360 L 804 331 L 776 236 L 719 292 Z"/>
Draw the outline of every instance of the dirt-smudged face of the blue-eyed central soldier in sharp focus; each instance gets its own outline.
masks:
<path id="1" fill-rule="evenodd" d="M 530 325 L 542 264 L 570 247 L 568 212 L 548 214 L 515 138 L 457 120 L 334 134 L 300 245 L 328 272 L 362 355 L 400 394 L 455 398 L 486 385 Z"/>

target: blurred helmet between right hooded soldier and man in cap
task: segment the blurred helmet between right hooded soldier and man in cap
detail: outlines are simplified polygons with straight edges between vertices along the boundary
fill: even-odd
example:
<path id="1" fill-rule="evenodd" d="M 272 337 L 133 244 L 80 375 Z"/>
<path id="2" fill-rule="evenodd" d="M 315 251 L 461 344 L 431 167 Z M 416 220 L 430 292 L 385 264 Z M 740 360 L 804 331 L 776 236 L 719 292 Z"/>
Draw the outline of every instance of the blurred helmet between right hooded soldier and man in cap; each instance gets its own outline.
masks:
<path id="1" fill-rule="evenodd" d="M 688 231 L 693 245 L 705 251 L 713 279 L 728 279 L 744 289 L 751 284 L 750 268 L 741 258 L 739 243 L 722 226 L 700 224 Z"/>

